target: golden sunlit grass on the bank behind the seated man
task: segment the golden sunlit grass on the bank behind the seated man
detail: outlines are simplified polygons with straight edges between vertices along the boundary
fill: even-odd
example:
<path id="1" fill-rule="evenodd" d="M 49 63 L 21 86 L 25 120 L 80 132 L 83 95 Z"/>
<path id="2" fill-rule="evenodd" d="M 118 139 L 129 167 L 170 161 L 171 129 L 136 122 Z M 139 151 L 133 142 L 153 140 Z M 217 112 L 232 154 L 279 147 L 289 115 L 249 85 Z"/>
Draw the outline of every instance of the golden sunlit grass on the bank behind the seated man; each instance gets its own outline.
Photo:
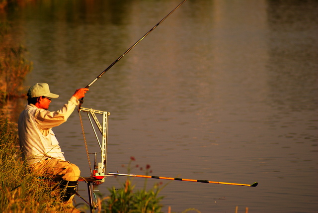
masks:
<path id="1" fill-rule="evenodd" d="M 20 160 L 16 127 L 0 118 L 0 206 L 6 213 L 53 213 L 61 202 Z"/>

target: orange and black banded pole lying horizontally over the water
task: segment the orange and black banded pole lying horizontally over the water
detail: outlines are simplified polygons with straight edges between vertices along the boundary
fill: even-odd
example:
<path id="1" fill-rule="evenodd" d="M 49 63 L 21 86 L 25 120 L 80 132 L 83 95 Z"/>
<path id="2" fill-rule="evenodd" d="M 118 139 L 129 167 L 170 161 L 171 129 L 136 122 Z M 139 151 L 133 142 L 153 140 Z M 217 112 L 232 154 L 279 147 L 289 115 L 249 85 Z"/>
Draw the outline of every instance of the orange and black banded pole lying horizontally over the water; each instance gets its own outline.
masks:
<path id="1" fill-rule="evenodd" d="M 137 178 L 155 178 L 155 179 L 164 179 L 164 180 L 172 180 L 172 181 L 190 181 L 190 182 L 199 182 L 199 183 L 206 183 L 206 184 L 226 184 L 226 185 L 247 186 L 247 187 L 256 187 L 258 185 L 257 182 L 249 185 L 249 184 L 236 184 L 236 183 L 226 183 L 226 182 L 207 181 L 207 180 L 193 180 L 193 179 L 167 178 L 167 177 L 148 176 L 148 175 L 120 174 L 120 173 L 112 173 L 112 172 L 108 173 L 107 175 L 128 176 L 128 177 L 137 177 Z"/>

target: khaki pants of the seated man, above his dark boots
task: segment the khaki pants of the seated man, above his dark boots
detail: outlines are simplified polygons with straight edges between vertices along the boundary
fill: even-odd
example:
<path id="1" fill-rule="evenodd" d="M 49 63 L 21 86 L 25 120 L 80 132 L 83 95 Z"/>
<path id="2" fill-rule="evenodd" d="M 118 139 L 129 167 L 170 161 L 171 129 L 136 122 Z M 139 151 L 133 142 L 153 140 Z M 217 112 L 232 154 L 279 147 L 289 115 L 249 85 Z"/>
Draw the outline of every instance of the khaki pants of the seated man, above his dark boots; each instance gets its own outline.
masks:
<path id="1" fill-rule="evenodd" d="M 33 163 L 29 167 L 36 175 L 51 178 L 54 181 L 77 181 L 80 175 L 77 165 L 59 159 L 48 158 L 39 163 Z"/>

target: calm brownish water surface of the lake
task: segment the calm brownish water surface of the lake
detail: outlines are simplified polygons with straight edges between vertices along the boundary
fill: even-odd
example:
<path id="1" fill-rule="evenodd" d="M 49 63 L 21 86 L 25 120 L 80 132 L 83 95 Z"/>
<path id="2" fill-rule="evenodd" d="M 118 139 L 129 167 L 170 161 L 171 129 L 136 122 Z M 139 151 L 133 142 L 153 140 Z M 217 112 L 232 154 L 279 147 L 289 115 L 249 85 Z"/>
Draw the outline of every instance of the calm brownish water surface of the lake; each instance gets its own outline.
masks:
<path id="1" fill-rule="evenodd" d="M 60 94 L 50 106 L 57 110 L 180 2 L 26 3 L 8 14 L 34 64 L 26 86 L 49 83 Z M 317 26 L 316 0 L 185 2 L 84 99 L 83 107 L 111 112 L 107 171 L 126 173 L 134 156 L 154 176 L 259 183 L 163 181 L 163 212 L 317 212 Z M 89 175 L 79 115 L 54 131 L 66 158 Z M 141 189 L 144 180 L 134 183 Z M 111 186 L 115 178 L 99 190 Z"/>

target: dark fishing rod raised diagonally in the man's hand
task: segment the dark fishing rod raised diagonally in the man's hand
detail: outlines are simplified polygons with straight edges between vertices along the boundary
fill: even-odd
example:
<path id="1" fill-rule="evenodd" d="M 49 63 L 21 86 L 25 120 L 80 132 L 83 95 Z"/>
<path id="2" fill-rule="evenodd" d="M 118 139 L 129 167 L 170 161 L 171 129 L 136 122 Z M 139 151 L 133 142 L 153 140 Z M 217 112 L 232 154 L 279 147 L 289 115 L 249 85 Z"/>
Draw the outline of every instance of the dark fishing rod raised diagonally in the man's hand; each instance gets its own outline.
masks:
<path id="1" fill-rule="evenodd" d="M 94 84 L 102 75 L 104 75 L 112 66 L 114 66 L 122 57 L 124 57 L 131 49 L 133 49 L 141 40 L 143 40 L 149 33 L 151 33 L 162 21 L 164 21 L 172 12 L 174 12 L 177 8 L 179 8 L 186 0 L 183 0 L 178 6 L 176 6 L 169 14 L 167 14 L 164 18 L 162 18 L 153 28 L 151 28 L 143 37 L 141 37 L 133 46 L 131 46 L 126 52 L 124 52 L 119 58 L 117 58 L 111 65 L 109 65 L 99 76 L 97 76 L 92 82 L 90 82 L 85 88 L 89 88 L 92 84 Z M 82 105 L 84 98 L 79 100 L 79 108 Z"/>

